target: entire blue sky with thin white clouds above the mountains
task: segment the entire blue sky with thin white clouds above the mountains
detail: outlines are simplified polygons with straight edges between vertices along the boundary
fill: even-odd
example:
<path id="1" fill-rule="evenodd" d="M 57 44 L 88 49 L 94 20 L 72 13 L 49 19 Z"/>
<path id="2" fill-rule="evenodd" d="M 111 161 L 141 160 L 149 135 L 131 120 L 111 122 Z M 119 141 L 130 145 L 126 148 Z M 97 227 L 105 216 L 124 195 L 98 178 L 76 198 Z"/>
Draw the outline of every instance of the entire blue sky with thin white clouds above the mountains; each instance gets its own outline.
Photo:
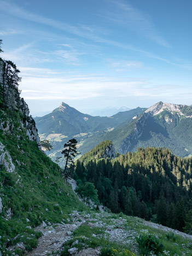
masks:
<path id="1" fill-rule="evenodd" d="M 61 102 L 192 104 L 191 0 L 0 0 L 1 57 L 33 116 Z"/>

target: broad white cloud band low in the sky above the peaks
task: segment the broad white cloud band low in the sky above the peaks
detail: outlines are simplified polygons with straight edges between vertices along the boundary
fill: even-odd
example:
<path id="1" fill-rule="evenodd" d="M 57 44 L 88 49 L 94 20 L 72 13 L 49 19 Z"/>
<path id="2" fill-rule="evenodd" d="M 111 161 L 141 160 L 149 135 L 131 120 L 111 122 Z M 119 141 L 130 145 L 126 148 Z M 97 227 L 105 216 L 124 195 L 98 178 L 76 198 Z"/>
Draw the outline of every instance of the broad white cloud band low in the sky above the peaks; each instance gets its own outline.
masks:
<path id="1" fill-rule="evenodd" d="M 29 71 L 29 70 L 28 70 Z M 27 72 L 28 72 L 27 71 Z M 78 73 L 57 73 L 49 69 L 31 68 L 31 76 L 23 75 L 20 88 L 25 100 L 88 100 L 96 98 L 130 98 L 147 97 L 162 100 L 171 95 L 172 98 L 189 97 L 191 87 L 183 91 L 179 84 L 156 84 L 150 79 L 115 78 L 106 75 Z"/>

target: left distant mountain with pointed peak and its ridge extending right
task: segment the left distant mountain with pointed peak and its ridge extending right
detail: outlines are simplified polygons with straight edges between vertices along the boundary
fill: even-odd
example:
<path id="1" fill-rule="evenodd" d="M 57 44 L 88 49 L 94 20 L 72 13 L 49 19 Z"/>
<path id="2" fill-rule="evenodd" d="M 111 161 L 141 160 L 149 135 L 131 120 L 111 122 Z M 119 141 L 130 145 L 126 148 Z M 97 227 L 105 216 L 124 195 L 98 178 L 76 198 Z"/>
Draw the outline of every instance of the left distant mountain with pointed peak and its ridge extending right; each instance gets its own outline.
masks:
<path id="1" fill-rule="evenodd" d="M 44 117 L 34 118 L 39 131 L 40 139 L 48 139 L 53 145 L 49 156 L 55 160 L 60 156 L 60 150 L 68 139 L 74 137 L 78 141 L 78 150 L 81 154 L 88 152 L 98 143 L 103 136 L 114 129 L 128 124 L 137 118 L 146 108 L 136 108 L 119 112 L 112 117 L 92 117 L 83 114 L 62 102 Z"/>

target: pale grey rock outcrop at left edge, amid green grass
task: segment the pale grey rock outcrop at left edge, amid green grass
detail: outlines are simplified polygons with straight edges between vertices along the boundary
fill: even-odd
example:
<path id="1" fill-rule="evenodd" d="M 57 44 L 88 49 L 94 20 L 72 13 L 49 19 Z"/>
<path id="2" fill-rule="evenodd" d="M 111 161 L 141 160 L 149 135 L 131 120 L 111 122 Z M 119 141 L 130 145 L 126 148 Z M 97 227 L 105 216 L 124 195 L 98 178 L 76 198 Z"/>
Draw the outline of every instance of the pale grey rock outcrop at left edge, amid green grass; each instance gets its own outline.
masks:
<path id="1" fill-rule="evenodd" d="M 15 166 L 12 162 L 11 156 L 5 150 L 3 144 L 0 142 L 0 164 L 5 167 L 5 170 L 7 172 L 14 172 L 15 171 Z"/>

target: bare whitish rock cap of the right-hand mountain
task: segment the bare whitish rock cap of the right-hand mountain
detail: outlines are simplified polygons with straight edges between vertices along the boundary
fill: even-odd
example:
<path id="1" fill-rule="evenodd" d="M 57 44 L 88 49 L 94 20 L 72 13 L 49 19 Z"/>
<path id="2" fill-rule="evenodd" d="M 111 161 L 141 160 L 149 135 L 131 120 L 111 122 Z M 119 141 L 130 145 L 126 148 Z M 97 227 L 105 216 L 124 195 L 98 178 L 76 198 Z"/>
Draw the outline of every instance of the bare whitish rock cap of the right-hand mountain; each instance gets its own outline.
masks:
<path id="1" fill-rule="evenodd" d="M 152 107 L 148 108 L 146 110 L 146 113 L 151 113 L 152 115 L 158 115 L 164 110 L 168 110 L 171 113 L 178 112 L 181 115 L 184 115 L 182 113 L 182 108 L 185 107 L 185 105 L 178 105 L 178 104 L 172 104 L 172 103 L 163 103 L 162 101 L 154 104 Z"/>

